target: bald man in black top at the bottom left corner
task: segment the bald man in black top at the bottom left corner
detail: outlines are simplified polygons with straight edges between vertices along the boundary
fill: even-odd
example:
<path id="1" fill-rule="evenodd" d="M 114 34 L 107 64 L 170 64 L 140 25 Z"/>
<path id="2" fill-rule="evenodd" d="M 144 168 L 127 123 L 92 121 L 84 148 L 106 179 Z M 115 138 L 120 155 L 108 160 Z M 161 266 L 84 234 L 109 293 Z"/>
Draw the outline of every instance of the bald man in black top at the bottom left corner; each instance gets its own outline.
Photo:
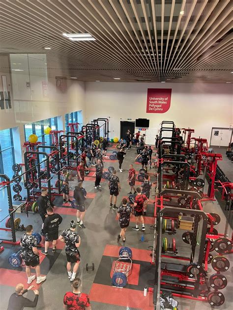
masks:
<path id="1" fill-rule="evenodd" d="M 33 287 L 34 285 L 30 285 L 28 289 L 24 289 L 24 284 L 17 284 L 15 286 L 15 293 L 10 296 L 7 310 L 23 310 L 24 307 L 36 307 L 39 298 L 39 291 L 37 289 L 34 289 L 35 298 L 33 301 L 23 297 L 23 295 Z"/>

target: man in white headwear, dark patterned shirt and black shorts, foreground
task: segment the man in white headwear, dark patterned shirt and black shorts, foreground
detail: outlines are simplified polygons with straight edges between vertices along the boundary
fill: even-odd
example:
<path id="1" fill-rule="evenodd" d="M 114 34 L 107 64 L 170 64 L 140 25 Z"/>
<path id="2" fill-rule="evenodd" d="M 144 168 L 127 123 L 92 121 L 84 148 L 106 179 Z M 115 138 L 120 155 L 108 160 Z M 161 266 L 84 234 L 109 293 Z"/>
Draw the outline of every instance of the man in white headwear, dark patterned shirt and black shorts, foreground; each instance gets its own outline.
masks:
<path id="1" fill-rule="evenodd" d="M 67 272 L 70 281 L 74 281 L 80 264 L 79 246 L 81 244 L 80 236 L 75 232 L 75 221 L 70 222 L 70 228 L 65 229 L 59 236 L 59 240 L 65 243 L 65 254 L 67 258 Z M 71 272 L 71 264 L 74 263 L 73 273 Z"/>

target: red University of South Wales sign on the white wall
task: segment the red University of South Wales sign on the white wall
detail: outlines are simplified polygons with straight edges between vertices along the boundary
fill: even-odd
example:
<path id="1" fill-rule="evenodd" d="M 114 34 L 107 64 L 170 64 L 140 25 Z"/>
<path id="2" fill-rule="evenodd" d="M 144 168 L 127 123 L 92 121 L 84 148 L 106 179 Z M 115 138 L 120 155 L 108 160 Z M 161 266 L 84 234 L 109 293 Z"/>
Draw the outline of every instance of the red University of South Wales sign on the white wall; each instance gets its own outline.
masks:
<path id="1" fill-rule="evenodd" d="M 172 88 L 148 88 L 146 113 L 165 113 L 171 105 Z"/>

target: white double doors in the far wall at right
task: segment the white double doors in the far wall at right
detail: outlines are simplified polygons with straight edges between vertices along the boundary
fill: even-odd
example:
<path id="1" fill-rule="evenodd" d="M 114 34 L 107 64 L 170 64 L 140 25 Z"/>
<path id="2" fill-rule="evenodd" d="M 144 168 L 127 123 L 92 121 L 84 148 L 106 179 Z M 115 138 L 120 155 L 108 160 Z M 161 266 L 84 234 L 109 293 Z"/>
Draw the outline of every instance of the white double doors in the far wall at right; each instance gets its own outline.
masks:
<path id="1" fill-rule="evenodd" d="M 210 146 L 229 146 L 232 142 L 232 129 L 230 128 L 212 128 Z"/>

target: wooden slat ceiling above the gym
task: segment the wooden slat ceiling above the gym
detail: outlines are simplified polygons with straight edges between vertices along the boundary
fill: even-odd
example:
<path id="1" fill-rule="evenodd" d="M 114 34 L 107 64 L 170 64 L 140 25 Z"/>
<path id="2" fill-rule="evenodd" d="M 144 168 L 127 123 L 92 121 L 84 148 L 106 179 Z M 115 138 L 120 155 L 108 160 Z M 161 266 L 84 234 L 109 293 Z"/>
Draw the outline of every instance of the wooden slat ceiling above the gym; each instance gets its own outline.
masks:
<path id="1" fill-rule="evenodd" d="M 0 0 L 0 16 L 0 53 L 46 53 L 55 75 L 233 79 L 232 0 Z M 96 41 L 72 42 L 63 32 L 88 32 Z"/>

